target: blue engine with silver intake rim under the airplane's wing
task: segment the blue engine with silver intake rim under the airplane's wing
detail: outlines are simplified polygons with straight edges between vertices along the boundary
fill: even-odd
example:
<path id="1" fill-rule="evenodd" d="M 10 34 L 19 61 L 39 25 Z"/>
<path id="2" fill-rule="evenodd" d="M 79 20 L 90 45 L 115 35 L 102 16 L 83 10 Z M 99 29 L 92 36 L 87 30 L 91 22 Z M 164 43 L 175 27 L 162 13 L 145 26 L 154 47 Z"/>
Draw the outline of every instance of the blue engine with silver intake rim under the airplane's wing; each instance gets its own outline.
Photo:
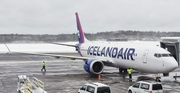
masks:
<path id="1" fill-rule="evenodd" d="M 104 70 L 104 64 L 99 60 L 87 60 L 84 64 L 84 70 L 92 74 L 101 74 Z"/>

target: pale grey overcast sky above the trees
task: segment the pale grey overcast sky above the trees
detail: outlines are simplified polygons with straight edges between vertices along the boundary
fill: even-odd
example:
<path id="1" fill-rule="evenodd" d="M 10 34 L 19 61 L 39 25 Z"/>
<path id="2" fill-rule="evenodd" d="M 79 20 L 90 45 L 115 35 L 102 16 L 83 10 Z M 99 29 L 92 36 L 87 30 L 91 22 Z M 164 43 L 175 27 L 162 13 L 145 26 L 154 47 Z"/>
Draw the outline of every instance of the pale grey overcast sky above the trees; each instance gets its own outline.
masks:
<path id="1" fill-rule="evenodd" d="M 180 31 L 180 0 L 0 0 L 0 34 Z"/>

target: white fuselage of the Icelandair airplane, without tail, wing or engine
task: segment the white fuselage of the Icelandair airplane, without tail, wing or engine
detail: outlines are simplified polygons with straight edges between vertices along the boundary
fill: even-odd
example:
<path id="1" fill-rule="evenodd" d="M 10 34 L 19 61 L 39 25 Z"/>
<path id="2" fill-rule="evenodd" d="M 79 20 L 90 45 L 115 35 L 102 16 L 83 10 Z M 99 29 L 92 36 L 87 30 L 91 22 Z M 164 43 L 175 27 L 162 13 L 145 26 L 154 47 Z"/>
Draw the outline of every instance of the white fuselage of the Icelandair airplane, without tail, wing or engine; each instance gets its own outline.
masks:
<path id="1" fill-rule="evenodd" d="M 83 43 L 80 55 L 95 59 L 109 59 L 118 68 L 134 68 L 142 72 L 168 73 L 178 64 L 172 56 L 156 57 L 156 54 L 170 53 L 158 46 L 132 43 Z"/>

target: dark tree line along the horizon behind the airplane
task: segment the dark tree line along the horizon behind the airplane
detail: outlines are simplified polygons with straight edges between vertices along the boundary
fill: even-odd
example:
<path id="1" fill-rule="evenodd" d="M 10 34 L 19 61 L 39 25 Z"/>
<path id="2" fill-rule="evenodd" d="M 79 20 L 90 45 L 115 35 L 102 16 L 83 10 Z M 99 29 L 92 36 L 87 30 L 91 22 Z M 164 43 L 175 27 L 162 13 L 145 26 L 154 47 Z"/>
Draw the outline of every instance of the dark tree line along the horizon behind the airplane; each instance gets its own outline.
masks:
<path id="1" fill-rule="evenodd" d="M 85 33 L 88 40 L 107 40 L 110 38 L 157 41 L 160 37 L 178 37 L 180 32 L 163 31 L 106 31 L 98 33 Z M 77 41 L 78 34 L 0 34 L 0 43 L 39 43 L 39 42 L 66 42 Z"/>

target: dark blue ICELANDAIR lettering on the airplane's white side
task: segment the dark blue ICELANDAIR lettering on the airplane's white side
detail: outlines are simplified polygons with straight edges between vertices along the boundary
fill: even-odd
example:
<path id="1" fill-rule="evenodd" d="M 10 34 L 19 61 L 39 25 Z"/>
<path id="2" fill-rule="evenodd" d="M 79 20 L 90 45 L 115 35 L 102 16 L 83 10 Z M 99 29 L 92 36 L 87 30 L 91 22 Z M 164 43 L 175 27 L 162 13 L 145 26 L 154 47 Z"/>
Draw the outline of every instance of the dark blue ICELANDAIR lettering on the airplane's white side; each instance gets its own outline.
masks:
<path id="1" fill-rule="evenodd" d="M 121 58 L 124 60 L 134 60 L 134 52 L 134 48 L 89 46 L 87 50 L 87 55 L 104 56 L 118 59 Z"/>

